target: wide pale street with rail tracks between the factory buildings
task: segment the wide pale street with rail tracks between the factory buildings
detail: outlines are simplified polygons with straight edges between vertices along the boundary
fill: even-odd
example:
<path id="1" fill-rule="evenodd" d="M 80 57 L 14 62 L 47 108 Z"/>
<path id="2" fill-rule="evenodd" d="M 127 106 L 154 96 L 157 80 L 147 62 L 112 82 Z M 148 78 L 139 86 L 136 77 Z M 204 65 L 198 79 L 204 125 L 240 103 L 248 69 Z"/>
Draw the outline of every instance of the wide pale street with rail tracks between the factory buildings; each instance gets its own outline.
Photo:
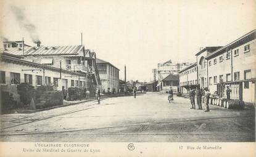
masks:
<path id="1" fill-rule="evenodd" d="M 252 142 L 255 110 L 191 110 L 189 99 L 147 93 L 30 114 L 1 115 L 9 142 Z"/>

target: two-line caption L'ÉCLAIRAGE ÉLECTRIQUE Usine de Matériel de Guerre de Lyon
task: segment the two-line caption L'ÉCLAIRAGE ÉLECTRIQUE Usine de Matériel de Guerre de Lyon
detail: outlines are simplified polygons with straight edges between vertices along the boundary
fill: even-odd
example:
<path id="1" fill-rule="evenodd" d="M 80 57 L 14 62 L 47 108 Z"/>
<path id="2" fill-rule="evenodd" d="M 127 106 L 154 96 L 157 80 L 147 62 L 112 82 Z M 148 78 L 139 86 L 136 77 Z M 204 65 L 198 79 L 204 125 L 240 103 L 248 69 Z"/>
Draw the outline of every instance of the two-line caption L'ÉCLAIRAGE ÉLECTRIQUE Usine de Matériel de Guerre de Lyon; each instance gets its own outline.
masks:
<path id="1" fill-rule="evenodd" d="M 34 147 L 22 148 L 28 153 L 100 153 L 101 149 L 90 148 L 87 143 L 35 143 Z"/>

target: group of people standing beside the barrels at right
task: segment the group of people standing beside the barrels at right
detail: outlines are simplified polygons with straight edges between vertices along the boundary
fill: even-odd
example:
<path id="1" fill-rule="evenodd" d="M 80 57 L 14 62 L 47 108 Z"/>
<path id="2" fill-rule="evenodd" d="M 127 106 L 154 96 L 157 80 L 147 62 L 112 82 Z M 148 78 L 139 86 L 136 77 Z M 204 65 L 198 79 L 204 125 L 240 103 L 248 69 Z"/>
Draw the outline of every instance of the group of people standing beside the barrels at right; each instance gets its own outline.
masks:
<path id="1" fill-rule="evenodd" d="M 203 94 L 204 92 L 204 94 Z M 230 93 L 231 93 L 231 89 L 229 89 L 229 86 L 227 86 L 226 89 L 226 97 L 228 100 L 230 100 Z M 203 89 L 200 89 L 199 87 L 196 88 L 196 90 L 190 88 L 189 90 L 189 99 L 191 102 L 191 109 L 196 109 L 196 103 L 195 103 L 195 97 L 196 97 L 196 102 L 197 102 L 197 110 L 202 110 L 202 95 L 204 95 L 204 99 L 205 99 L 205 111 L 208 112 L 210 111 L 209 108 L 209 99 L 210 99 L 210 92 L 209 89 L 206 87 L 203 91 Z M 218 95 L 218 92 L 216 91 L 214 93 L 215 96 Z"/>

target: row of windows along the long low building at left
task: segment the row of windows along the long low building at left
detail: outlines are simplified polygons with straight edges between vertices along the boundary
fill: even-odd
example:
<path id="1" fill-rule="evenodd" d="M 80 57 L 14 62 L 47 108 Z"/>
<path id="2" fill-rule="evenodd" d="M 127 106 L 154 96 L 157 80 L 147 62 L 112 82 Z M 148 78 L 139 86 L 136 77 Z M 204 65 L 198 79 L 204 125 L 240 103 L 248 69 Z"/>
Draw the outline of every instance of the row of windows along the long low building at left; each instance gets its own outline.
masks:
<path id="1" fill-rule="evenodd" d="M 36 75 L 36 85 L 43 85 L 43 76 Z M 24 74 L 24 83 L 33 84 L 32 74 Z M 45 76 L 44 83 L 50 85 L 51 77 Z M 6 72 L 0 71 L 0 84 L 6 84 Z M 20 84 L 20 73 L 10 73 L 10 84 Z M 53 78 L 54 86 L 58 86 L 58 78 Z M 78 87 L 78 80 L 71 80 L 71 86 Z M 85 81 L 79 82 L 80 87 L 86 87 Z"/>

